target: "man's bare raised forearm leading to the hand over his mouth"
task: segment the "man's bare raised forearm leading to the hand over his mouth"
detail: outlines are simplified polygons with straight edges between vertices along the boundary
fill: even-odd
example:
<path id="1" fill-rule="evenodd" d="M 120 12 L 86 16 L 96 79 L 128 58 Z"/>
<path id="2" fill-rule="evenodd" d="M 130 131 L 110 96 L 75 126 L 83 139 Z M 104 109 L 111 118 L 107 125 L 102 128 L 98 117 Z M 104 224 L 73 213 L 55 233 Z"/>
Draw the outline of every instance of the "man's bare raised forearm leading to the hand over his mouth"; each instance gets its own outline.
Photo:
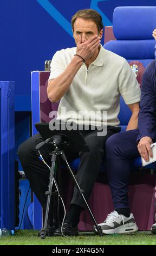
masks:
<path id="1" fill-rule="evenodd" d="M 82 63 L 82 59 L 79 56 L 75 56 L 60 76 L 54 80 L 49 80 L 47 94 L 51 102 L 59 101 L 67 92 Z"/>

